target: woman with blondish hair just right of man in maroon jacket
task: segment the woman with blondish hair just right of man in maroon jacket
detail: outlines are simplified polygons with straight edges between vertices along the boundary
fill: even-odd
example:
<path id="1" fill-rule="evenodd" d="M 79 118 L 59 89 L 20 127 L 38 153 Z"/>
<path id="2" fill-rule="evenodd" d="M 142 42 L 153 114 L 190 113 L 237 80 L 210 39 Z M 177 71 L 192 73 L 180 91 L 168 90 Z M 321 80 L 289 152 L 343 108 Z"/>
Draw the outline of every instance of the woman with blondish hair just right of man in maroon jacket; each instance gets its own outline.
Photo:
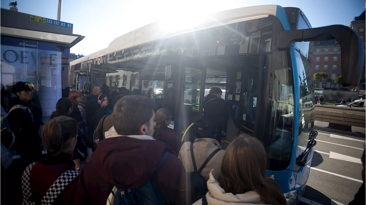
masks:
<path id="1" fill-rule="evenodd" d="M 182 141 L 175 135 L 173 129 L 168 128 L 172 121 L 172 112 L 168 108 L 160 108 L 155 113 L 154 139 L 165 142 L 178 156 Z"/>

